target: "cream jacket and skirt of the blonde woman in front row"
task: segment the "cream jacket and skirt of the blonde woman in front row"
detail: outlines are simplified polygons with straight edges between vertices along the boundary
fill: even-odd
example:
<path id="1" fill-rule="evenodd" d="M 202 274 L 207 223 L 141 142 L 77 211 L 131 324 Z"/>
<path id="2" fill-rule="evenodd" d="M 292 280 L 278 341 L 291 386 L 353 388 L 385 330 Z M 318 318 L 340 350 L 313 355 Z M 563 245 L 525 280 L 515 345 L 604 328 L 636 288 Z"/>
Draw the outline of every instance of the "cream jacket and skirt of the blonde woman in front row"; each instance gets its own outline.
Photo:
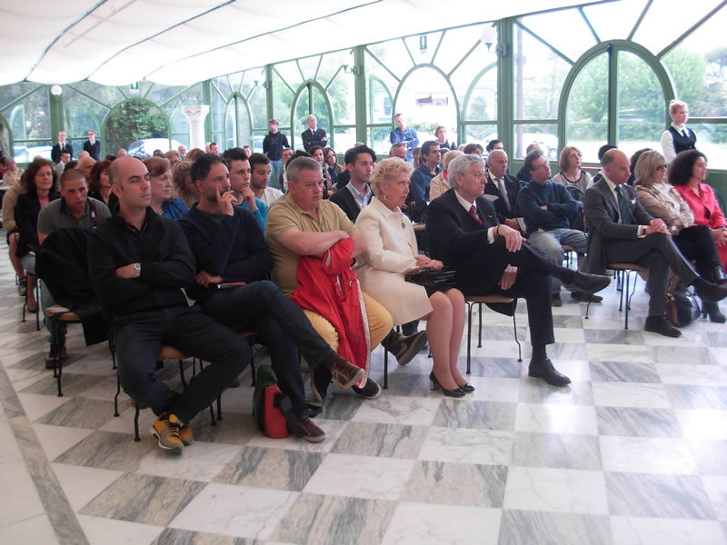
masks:
<path id="1" fill-rule="evenodd" d="M 403 279 L 416 268 L 418 252 L 412 222 L 398 208 L 389 210 L 378 198 L 358 214 L 356 227 L 367 249 L 354 266 L 364 292 L 389 311 L 393 324 L 412 322 L 432 312 L 423 286 Z"/>

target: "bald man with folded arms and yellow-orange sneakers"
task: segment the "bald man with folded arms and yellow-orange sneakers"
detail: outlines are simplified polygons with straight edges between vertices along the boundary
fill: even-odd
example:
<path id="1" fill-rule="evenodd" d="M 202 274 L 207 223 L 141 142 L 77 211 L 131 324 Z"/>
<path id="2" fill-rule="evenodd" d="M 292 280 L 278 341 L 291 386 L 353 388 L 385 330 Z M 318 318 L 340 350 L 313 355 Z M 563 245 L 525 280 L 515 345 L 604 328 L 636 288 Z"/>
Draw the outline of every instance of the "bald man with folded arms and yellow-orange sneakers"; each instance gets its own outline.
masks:
<path id="1" fill-rule="evenodd" d="M 150 208 L 149 173 L 120 157 L 109 168 L 119 212 L 88 243 L 94 289 L 112 321 L 124 391 L 157 415 L 152 434 L 161 448 L 181 453 L 194 442 L 189 422 L 224 391 L 250 361 L 250 347 L 224 325 L 189 306 L 180 288 L 194 285 L 194 256 L 182 228 Z M 184 391 L 156 377 L 164 344 L 206 363 Z"/>

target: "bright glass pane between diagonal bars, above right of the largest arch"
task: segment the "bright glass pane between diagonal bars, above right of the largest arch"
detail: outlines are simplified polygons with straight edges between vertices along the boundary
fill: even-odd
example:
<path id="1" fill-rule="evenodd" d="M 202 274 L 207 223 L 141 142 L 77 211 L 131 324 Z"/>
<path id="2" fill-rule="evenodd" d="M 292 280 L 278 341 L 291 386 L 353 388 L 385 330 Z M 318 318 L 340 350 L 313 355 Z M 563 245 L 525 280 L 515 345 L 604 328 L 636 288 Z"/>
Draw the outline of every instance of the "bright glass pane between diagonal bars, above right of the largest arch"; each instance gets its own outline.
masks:
<path id="1" fill-rule="evenodd" d="M 707 15 L 716 4 L 715 0 L 692 0 L 689 5 L 684 5 L 680 0 L 654 2 L 633 35 L 633 41 L 646 47 L 652 54 L 658 54 Z M 702 29 L 697 32 L 701 33 Z M 714 37 L 719 40 L 720 36 Z"/>

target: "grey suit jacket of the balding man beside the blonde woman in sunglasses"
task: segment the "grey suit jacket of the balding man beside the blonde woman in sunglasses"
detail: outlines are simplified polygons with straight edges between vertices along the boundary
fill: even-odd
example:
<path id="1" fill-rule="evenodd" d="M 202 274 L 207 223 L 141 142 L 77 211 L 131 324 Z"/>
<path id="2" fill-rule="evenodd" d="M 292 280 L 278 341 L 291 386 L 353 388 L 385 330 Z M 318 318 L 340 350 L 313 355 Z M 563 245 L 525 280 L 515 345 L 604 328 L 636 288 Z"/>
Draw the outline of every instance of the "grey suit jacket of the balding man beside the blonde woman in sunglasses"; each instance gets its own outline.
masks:
<path id="1" fill-rule="evenodd" d="M 639 203 L 636 190 L 626 183 L 621 187 L 635 224 L 619 223 L 619 204 L 605 178 L 589 187 L 583 197 L 583 213 L 588 226 L 588 272 L 603 274 L 609 241 L 635 240 L 639 236 L 638 225 L 648 225 L 653 219 Z"/>

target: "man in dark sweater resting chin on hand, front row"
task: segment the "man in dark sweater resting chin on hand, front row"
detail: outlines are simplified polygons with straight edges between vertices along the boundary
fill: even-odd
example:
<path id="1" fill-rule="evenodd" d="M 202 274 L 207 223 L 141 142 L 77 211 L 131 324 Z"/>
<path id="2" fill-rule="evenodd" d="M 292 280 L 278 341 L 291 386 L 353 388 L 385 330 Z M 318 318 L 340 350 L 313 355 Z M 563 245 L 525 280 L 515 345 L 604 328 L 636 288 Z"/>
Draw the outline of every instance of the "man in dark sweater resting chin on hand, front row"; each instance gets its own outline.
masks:
<path id="1" fill-rule="evenodd" d="M 233 206 L 226 173 L 224 160 L 213 154 L 200 156 L 192 168 L 202 198 L 180 221 L 197 268 L 189 295 L 217 322 L 256 333 L 270 352 L 281 390 L 292 401 L 304 440 L 323 441 L 324 431 L 311 421 L 305 406 L 298 349 L 311 368 L 324 366 L 344 388 L 359 381 L 364 370 L 339 358 L 300 307 L 265 280 L 273 268 L 270 250 L 252 214 Z M 245 285 L 218 289 L 227 282 Z"/>

